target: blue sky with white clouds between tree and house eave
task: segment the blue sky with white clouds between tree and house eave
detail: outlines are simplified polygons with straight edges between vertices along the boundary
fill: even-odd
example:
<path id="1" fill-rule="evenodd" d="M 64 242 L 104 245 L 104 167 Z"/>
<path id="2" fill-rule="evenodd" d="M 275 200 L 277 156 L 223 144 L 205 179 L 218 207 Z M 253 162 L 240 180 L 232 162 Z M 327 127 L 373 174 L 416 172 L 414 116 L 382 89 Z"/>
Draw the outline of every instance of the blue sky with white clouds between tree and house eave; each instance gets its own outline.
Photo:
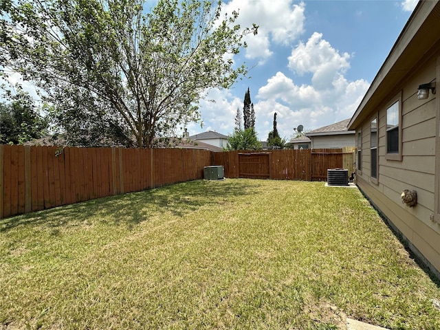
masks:
<path id="1" fill-rule="evenodd" d="M 201 102 L 203 127 L 190 135 L 234 130 L 236 109 L 245 91 L 256 113 L 259 139 L 272 131 L 274 112 L 281 137 L 294 127 L 316 129 L 351 118 L 408 21 L 417 1 L 230 0 L 239 23 L 260 26 L 248 48 L 234 58 L 252 67 L 232 89 L 212 89 L 216 102 Z"/>

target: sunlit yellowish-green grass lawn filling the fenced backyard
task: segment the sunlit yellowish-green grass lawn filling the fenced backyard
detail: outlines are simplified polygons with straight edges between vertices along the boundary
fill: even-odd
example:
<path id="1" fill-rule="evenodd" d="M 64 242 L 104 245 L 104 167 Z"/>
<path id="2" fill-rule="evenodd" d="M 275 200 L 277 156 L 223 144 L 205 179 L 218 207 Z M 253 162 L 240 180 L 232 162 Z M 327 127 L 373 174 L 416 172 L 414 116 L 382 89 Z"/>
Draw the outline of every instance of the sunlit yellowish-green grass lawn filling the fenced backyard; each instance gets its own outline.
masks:
<path id="1" fill-rule="evenodd" d="M 0 220 L 0 329 L 440 329 L 357 189 L 191 181 Z"/>

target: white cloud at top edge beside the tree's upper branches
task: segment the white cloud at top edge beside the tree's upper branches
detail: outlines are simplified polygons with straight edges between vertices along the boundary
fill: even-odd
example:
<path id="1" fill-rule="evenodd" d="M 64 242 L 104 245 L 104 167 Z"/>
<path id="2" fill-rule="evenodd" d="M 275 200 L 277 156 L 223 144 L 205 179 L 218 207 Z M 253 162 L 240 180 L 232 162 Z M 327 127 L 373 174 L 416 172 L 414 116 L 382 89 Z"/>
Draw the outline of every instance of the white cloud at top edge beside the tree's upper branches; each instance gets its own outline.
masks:
<path id="1" fill-rule="evenodd" d="M 293 4 L 292 0 L 252 1 L 232 0 L 223 11 L 239 10 L 237 23 L 243 27 L 259 25 L 259 33 L 245 37 L 248 43 L 246 58 L 259 58 L 263 63 L 272 56 L 271 42 L 287 45 L 304 31 L 305 3 Z"/>

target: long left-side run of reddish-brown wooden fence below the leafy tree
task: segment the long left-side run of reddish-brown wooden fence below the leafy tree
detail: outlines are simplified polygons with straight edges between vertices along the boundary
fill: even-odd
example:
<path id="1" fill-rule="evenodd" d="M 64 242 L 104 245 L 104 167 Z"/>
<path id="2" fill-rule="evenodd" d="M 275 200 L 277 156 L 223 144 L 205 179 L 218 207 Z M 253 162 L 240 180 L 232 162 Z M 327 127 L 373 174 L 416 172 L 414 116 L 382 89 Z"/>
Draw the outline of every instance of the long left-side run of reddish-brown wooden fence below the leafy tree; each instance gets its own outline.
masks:
<path id="1" fill-rule="evenodd" d="M 0 145 L 0 219 L 203 178 L 210 151 Z"/>

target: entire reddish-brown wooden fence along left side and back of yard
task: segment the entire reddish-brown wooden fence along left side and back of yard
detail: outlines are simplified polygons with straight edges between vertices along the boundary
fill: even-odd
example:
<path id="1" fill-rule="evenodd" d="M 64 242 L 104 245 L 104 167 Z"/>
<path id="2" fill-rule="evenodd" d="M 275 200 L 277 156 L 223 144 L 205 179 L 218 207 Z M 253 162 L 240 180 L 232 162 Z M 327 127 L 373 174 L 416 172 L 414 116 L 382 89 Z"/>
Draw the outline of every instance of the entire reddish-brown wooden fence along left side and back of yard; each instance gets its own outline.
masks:
<path id="1" fill-rule="evenodd" d="M 353 170 L 354 148 L 214 153 L 198 149 L 64 148 L 0 145 L 0 219 L 89 199 L 203 178 L 326 180 L 328 168 Z"/>

